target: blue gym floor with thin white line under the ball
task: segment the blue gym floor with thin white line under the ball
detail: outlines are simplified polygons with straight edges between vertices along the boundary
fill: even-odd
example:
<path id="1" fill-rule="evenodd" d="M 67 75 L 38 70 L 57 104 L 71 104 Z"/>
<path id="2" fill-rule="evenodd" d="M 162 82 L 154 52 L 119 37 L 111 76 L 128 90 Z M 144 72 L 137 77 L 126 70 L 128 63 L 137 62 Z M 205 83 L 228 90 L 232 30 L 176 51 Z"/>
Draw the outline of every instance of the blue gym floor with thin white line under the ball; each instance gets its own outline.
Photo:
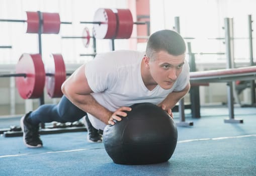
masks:
<path id="1" fill-rule="evenodd" d="M 159 164 L 115 164 L 103 143 L 87 142 L 87 132 L 41 135 L 44 147 L 37 149 L 25 147 L 22 137 L 0 136 L 0 175 L 256 175 L 256 108 L 234 112 L 243 124 L 224 123 L 224 106 L 202 108 L 200 119 L 186 110 L 194 126 L 178 127 L 173 156 Z"/>

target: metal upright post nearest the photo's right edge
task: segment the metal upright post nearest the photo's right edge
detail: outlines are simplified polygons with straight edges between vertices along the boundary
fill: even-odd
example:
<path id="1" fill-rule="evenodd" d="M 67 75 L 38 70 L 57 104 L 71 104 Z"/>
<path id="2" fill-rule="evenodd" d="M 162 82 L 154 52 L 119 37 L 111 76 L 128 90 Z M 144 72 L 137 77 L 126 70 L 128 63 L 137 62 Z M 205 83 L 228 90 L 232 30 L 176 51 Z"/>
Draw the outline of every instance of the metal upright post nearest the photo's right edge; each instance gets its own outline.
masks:
<path id="1" fill-rule="evenodd" d="M 248 15 L 248 34 L 249 34 L 249 54 L 250 54 L 250 66 L 254 65 L 253 62 L 253 47 L 252 47 L 252 19 L 251 19 L 251 15 Z M 254 80 L 250 81 L 250 93 L 251 93 L 251 105 L 255 105 L 256 104 L 256 96 L 255 96 L 255 82 Z"/>

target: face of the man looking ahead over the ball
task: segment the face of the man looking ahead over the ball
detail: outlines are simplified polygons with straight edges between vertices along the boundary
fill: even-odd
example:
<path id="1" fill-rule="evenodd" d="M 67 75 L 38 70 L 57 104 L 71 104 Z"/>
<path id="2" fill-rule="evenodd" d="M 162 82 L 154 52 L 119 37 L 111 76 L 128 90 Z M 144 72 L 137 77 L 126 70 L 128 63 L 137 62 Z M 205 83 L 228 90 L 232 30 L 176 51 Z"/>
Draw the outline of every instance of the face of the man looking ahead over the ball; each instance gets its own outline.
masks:
<path id="1" fill-rule="evenodd" d="M 174 56 L 166 51 L 159 51 L 154 53 L 153 57 L 153 59 L 149 58 L 149 71 L 152 78 L 162 89 L 172 88 L 182 71 L 185 54 Z"/>

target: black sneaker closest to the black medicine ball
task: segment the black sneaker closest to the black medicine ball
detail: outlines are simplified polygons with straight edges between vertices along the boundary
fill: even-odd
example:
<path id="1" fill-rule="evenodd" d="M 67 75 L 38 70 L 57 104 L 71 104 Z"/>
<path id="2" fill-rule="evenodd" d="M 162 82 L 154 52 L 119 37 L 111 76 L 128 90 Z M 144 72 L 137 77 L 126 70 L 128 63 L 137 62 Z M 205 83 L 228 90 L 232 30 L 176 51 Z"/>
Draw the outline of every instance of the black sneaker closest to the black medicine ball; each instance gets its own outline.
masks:
<path id="1" fill-rule="evenodd" d="M 98 130 L 93 127 L 88 116 L 83 117 L 84 125 L 87 128 L 87 140 L 89 142 L 102 142 L 102 135 L 98 133 Z"/>

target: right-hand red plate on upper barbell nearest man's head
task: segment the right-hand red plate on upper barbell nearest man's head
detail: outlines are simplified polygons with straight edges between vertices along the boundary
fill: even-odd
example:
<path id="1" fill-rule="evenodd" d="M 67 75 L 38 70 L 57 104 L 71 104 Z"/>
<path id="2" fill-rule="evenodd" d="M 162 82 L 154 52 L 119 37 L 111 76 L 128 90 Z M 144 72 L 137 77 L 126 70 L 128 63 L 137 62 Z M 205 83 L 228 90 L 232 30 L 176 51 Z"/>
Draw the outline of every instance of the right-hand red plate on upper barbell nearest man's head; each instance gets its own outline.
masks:
<path id="1" fill-rule="evenodd" d="M 129 9 L 117 9 L 118 27 L 116 37 L 117 39 L 128 39 L 132 35 L 133 19 L 132 13 Z"/>

